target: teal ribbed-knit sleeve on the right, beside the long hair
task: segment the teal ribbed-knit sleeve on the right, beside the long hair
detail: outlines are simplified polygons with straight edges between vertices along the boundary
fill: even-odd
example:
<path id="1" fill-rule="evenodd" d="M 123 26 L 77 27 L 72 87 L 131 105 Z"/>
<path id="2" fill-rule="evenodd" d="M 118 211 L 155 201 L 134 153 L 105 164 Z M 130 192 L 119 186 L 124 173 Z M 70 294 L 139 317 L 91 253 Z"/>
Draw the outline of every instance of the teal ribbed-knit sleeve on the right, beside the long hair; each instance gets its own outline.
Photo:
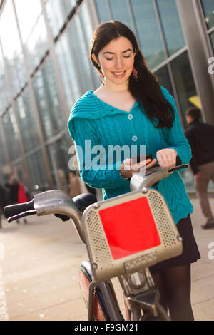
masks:
<path id="1" fill-rule="evenodd" d="M 180 157 L 182 164 L 188 164 L 192 157 L 191 148 L 188 143 L 187 138 L 183 133 L 183 129 L 180 125 L 180 119 L 178 116 L 178 110 L 175 104 L 175 99 L 170 93 L 161 86 L 161 90 L 163 91 L 163 95 L 170 102 L 175 110 L 175 120 L 173 122 L 173 127 L 168 129 L 164 128 L 163 133 L 165 135 L 165 141 L 168 143 L 168 148 L 175 149 Z"/>

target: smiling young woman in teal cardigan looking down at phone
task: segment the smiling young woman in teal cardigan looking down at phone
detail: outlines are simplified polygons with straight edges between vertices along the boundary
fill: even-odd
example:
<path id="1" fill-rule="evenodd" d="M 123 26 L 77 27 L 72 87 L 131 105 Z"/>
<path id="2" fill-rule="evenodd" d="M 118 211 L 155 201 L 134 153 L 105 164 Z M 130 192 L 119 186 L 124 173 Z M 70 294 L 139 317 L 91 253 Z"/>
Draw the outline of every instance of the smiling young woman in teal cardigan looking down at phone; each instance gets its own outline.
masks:
<path id="1" fill-rule="evenodd" d="M 91 61 L 103 83 L 76 101 L 68 120 L 83 181 L 102 188 L 105 200 L 130 192 L 130 177 L 146 163 L 147 167 L 156 163 L 173 167 L 177 155 L 183 164 L 189 163 L 190 145 L 183 135 L 175 100 L 148 70 L 133 32 L 118 21 L 98 26 L 93 33 Z M 153 160 L 143 160 L 137 166 L 124 154 L 121 161 L 116 158 L 107 165 L 109 146 L 123 145 L 135 145 L 137 154 L 145 145 Z M 96 164 L 98 150 L 100 165 Z M 178 172 L 153 188 L 168 203 L 183 237 L 183 254 L 151 267 L 151 272 L 171 319 L 193 320 L 190 264 L 200 258 L 190 221 L 193 206 Z"/>

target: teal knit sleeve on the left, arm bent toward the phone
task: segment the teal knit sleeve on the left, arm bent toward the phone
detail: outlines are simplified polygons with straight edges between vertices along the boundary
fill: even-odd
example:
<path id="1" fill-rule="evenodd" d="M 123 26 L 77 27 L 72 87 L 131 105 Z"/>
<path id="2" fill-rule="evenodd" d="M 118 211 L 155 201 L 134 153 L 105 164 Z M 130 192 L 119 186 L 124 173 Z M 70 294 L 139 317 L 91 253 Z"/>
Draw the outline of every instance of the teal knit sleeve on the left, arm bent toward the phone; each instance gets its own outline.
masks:
<path id="1" fill-rule="evenodd" d="M 71 126 L 72 138 L 76 145 L 76 155 L 82 180 L 95 188 L 114 189 L 129 184 L 129 181 L 120 175 L 119 168 L 121 162 L 110 166 L 105 164 L 105 159 L 103 160 L 103 164 L 102 159 L 96 160 L 99 153 L 93 153 L 93 149 L 98 149 L 98 147 L 96 147 L 98 145 L 98 138 L 93 120 L 73 118 L 73 120 L 68 123 L 68 129 L 71 128 Z"/>

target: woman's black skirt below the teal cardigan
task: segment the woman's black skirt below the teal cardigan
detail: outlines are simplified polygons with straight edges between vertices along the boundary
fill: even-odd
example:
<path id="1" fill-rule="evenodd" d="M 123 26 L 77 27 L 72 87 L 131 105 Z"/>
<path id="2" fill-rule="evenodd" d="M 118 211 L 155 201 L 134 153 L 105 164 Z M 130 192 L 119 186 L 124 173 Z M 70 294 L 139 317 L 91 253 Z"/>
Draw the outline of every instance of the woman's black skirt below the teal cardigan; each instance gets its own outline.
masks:
<path id="1" fill-rule="evenodd" d="M 182 254 L 150 267 L 151 274 L 168 269 L 169 267 L 177 267 L 178 265 L 194 263 L 200 259 L 200 252 L 195 242 L 190 214 L 188 214 L 185 219 L 179 220 L 177 228 L 180 232 L 180 236 L 183 238 Z"/>

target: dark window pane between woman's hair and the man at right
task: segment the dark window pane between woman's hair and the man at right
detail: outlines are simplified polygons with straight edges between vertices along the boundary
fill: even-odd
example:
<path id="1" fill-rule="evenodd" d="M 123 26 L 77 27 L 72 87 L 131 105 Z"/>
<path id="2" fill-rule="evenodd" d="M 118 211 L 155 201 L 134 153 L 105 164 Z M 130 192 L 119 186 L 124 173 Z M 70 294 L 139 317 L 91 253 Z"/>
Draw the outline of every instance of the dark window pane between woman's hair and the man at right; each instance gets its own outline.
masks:
<path id="1" fill-rule="evenodd" d="M 180 101 L 180 108 L 183 115 L 183 124 L 186 128 L 187 122 L 185 120 L 185 111 L 189 107 L 193 106 L 193 103 L 191 103 L 190 100 L 194 96 L 197 96 L 188 53 L 182 53 L 180 56 L 171 61 L 171 67 L 175 79 L 175 86 L 178 92 L 178 98 Z"/>

